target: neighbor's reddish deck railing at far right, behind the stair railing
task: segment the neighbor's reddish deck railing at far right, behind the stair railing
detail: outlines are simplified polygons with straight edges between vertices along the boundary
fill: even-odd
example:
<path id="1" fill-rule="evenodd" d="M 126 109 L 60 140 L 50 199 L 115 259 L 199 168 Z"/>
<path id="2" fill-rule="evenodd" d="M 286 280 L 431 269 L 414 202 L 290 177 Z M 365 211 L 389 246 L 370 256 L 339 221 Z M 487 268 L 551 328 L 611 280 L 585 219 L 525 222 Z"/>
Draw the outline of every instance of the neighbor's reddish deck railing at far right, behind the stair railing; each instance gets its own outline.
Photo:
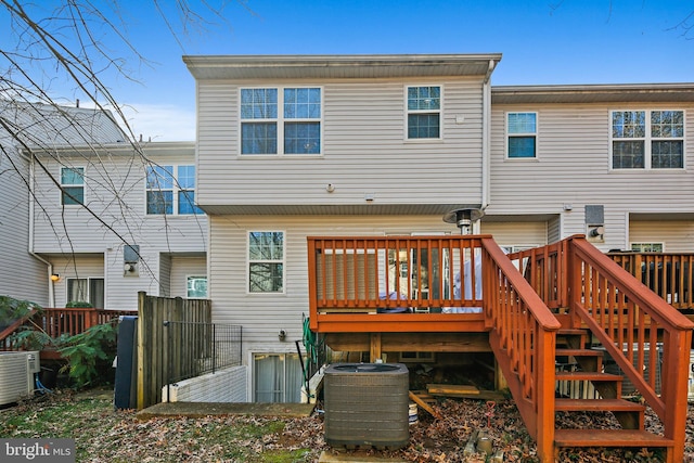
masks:
<path id="1" fill-rule="evenodd" d="M 679 310 L 694 310 L 694 253 L 607 253 Z"/>

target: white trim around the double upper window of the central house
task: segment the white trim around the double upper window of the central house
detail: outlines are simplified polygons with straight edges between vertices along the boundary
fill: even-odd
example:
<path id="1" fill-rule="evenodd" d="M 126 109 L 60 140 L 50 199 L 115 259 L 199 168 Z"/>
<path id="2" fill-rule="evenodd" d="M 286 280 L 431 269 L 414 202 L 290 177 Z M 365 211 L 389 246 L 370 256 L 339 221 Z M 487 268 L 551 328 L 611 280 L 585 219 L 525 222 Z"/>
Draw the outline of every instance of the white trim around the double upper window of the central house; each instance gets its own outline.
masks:
<path id="1" fill-rule="evenodd" d="M 242 90 L 253 90 L 253 89 L 277 89 L 278 91 L 278 117 L 277 118 L 268 118 L 268 119 L 243 119 L 241 117 L 241 91 Z M 285 89 L 320 89 L 321 91 L 321 117 L 318 119 L 285 119 L 284 118 L 284 90 Z M 323 156 L 325 152 L 325 138 L 323 136 L 324 124 L 324 115 L 325 115 L 325 92 L 323 90 L 323 86 L 310 86 L 310 85 L 301 85 L 301 86 L 243 86 L 239 87 L 236 92 L 236 98 L 239 100 L 237 105 L 237 117 L 239 117 L 239 158 L 241 159 L 259 159 L 259 158 L 316 158 L 319 156 Z M 244 123 L 272 123 L 274 121 L 278 127 L 278 152 L 275 154 L 242 154 L 243 149 L 243 136 L 242 136 L 242 126 Z M 321 149 L 319 153 L 314 154 L 285 154 L 284 153 L 284 123 L 293 121 L 293 123 L 319 123 L 320 124 L 320 138 L 321 138 Z"/>

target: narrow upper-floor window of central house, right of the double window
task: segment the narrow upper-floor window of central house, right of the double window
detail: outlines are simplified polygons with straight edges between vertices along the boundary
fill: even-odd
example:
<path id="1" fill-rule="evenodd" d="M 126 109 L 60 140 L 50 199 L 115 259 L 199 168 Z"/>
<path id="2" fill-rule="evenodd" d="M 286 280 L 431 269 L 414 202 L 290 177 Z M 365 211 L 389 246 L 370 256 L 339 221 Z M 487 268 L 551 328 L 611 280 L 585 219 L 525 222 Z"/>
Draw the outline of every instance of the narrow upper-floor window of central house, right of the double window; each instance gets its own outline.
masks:
<path id="1" fill-rule="evenodd" d="M 408 87 L 408 140 L 441 138 L 441 88 Z"/>

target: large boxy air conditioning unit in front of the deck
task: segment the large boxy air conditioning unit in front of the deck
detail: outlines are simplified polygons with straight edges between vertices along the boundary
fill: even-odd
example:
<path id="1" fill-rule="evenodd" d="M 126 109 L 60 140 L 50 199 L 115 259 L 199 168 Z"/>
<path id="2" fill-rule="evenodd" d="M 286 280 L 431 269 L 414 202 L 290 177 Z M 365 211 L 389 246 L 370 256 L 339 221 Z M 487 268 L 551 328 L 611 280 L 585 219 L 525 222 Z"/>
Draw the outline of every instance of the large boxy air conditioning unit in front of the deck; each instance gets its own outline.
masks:
<path id="1" fill-rule="evenodd" d="M 399 449 L 410 439 L 409 372 L 402 363 L 335 363 L 323 377 L 325 441 Z"/>

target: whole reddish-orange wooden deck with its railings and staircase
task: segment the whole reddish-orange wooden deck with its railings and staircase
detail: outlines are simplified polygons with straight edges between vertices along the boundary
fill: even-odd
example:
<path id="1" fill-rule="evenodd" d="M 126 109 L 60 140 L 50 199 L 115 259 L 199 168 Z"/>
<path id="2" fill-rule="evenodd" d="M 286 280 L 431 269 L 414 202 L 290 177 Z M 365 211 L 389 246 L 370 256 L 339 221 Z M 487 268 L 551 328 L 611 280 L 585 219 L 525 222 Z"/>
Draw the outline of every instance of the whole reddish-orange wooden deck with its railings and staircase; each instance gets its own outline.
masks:
<path id="1" fill-rule="evenodd" d="M 650 281 L 665 297 L 643 282 L 650 276 L 625 270 L 650 261 L 616 263 L 583 236 L 510 256 L 489 235 L 309 237 L 309 324 L 329 345 L 368 345 L 372 359 L 404 346 L 483 350 L 487 337 L 543 462 L 563 446 L 627 441 L 679 462 L 694 323 L 666 300 L 691 298 L 684 270 L 692 265 L 661 261 L 663 276 L 654 261 Z M 603 355 L 616 374 L 602 371 Z M 557 357 L 569 357 L 575 370 L 557 372 Z M 620 400 L 626 380 L 656 412 L 663 435 L 645 432 L 643 410 Z M 557 382 L 590 383 L 602 402 L 557 398 Z M 556 429 L 557 410 L 596 409 L 612 410 L 624 429 Z"/>

